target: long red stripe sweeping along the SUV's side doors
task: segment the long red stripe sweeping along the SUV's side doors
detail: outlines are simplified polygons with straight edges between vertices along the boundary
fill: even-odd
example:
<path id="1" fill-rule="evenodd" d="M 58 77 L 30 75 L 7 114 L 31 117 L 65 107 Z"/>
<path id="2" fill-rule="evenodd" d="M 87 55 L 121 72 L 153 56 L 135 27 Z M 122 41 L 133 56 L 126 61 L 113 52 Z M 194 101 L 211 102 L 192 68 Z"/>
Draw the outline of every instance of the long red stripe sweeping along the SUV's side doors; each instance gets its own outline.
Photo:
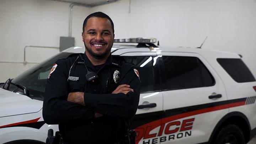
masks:
<path id="1" fill-rule="evenodd" d="M 209 107 L 209 108 L 203 108 L 201 110 L 195 110 L 195 111 L 191 111 L 191 112 L 181 113 L 181 114 L 177 114 L 177 115 L 174 115 L 174 116 L 158 119 L 156 121 L 144 124 L 144 125 L 142 125 L 140 127 L 137 127 L 135 129 L 135 131 L 137 133 L 140 133 L 142 131 L 140 129 L 146 129 L 146 130 L 151 131 L 151 130 L 159 127 L 160 124 L 165 124 L 165 123 L 168 123 L 168 122 L 171 122 L 171 121 L 175 121 L 177 119 L 181 119 L 181 118 L 185 118 L 185 117 L 189 117 L 189 116 L 194 116 L 194 115 L 197 115 L 197 114 L 212 112 L 212 111 L 224 110 L 226 108 L 237 107 L 237 106 L 242 106 L 242 105 L 245 105 L 245 101 L 228 103 L 228 104 L 225 104 L 225 105 L 213 106 L 213 107 Z M 144 132 L 144 133 L 146 133 L 146 132 Z M 138 134 L 138 137 L 136 137 L 136 144 L 138 144 L 139 141 L 142 138 L 145 138 L 145 134 L 144 133 L 143 134 Z M 142 136 L 140 136 L 140 135 L 142 135 Z M 145 139 L 151 138 L 151 137 L 155 137 L 155 135 L 146 135 Z"/>

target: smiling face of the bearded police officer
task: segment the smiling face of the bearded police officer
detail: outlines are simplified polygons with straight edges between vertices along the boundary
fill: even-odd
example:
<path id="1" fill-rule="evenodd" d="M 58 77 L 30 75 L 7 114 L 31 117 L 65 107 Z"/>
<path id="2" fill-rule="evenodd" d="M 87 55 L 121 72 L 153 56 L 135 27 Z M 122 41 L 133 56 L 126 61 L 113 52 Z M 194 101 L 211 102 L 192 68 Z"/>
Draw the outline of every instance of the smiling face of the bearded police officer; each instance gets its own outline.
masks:
<path id="1" fill-rule="evenodd" d="M 85 54 L 90 60 L 102 63 L 102 59 L 106 60 L 110 55 L 114 39 L 112 25 L 110 20 L 101 17 L 91 17 L 85 22 L 82 41 L 86 48 Z"/>

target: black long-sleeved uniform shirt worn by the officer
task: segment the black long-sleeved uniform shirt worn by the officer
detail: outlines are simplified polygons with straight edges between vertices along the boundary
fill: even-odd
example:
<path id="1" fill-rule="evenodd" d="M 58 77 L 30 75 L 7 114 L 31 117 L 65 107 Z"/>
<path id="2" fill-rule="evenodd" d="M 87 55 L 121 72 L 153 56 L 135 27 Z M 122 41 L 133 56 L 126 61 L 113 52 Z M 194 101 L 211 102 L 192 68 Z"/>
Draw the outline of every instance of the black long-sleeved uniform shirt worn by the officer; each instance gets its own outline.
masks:
<path id="1" fill-rule="evenodd" d="M 59 124 L 64 140 L 71 144 L 119 142 L 138 107 L 140 81 L 134 71 L 136 67 L 111 55 L 105 64 L 93 66 L 82 54 L 88 70 L 98 75 L 97 80 L 88 82 L 84 61 L 79 59 L 73 64 L 77 56 L 55 63 L 57 67 L 47 80 L 43 118 L 47 124 Z M 117 83 L 113 79 L 116 70 L 120 72 Z M 69 76 L 79 80 L 68 80 Z M 130 85 L 134 92 L 111 94 L 121 84 Z M 67 101 L 69 92 L 78 91 L 84 92 L 85 106 Z M 103 116 L 94 118 L 95 112 Z"/>

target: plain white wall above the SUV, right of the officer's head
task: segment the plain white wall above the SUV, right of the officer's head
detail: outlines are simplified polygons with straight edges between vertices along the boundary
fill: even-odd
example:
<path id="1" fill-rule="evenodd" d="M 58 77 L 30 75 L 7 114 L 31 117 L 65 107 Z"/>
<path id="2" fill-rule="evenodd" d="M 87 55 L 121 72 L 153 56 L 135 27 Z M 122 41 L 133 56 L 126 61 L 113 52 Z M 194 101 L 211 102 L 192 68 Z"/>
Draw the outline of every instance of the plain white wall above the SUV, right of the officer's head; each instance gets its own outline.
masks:
<path id="1" fill-rule="evenodd" d="M 121 0 L 94 7 L 115 24 L 116 37 L 155 37 L 160 46 L 241 54 L 256 76 L 255 0 Z"/>

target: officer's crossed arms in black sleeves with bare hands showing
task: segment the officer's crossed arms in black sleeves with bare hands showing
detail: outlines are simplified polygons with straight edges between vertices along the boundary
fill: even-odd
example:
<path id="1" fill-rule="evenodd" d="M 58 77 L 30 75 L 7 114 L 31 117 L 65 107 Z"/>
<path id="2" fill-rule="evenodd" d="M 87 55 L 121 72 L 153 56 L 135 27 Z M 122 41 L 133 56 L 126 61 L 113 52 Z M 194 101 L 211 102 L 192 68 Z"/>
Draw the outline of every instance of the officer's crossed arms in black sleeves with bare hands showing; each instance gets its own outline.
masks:
<path id="1" fill-rule="evenodd" d="M 58 66 L 47 81 L 43 118 L 47 124 L 84 121 L 102 115 L 114 119 L 132 118 L 138 107 L 140 81 L 133 69 L 112 94 L 91 94 L 68 91 L 65 63 Z"/>

